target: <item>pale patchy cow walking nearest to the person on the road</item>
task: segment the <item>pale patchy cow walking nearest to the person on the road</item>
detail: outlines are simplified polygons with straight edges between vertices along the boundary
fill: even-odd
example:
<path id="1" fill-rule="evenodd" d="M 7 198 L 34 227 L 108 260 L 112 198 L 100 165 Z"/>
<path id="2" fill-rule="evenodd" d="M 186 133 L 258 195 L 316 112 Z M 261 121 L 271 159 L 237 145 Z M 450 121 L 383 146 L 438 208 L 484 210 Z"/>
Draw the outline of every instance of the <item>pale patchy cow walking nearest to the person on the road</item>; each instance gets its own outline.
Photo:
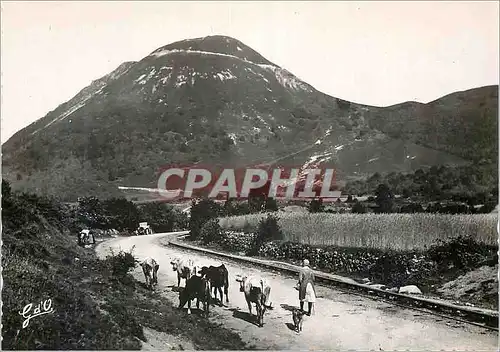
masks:
<path id="1" fill-rule="evenodd" d="M 264 278 L 252 276 L 237 276 L 236 281 L 240 283 L 240 292 L 245 293 L 248 310 L 252 314 L 252 303 L 257 309 L 257 324 L 264 326 L 264 313 L 266 309 L 272 309 L 268 303 L 271 295 L 271 286 Z"/>

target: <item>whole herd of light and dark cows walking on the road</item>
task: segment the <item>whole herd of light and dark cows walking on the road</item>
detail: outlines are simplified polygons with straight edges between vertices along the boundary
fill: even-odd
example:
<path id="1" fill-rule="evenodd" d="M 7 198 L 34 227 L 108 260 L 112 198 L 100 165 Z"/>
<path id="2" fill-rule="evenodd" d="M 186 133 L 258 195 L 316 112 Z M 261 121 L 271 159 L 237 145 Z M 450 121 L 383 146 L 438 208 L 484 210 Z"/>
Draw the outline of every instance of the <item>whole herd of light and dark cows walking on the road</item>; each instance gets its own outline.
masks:
<path id="1" fill-rule="evenodd" d="M 224 297 L 226 303 L 229 303 L 229 273 L 224 264 L 220 266 L 202 266 L 197 265 L 192 260 L 174 259 L 170 262 L 173 271 L 177 272 L 177 287 L 180 288 L 181 279 L 185 280 L 185 287 L 179 292 L 179 309 L 182 309 L 186 303 L 188 304 L 188 314 L 191 314 L 191 301 L 196 299 L 196 307 L 200 308 L 200 302 L 203 303 L 203 311 L 205 316 L 208 316 L 209 307 L 212 303 L 212 290 L 217 301 L 217 292 L 220 296 L 220 304 L 223 305 Z M 152 289 L 158 284 L 158 269 L 159 264 L 153 258 L 147 258 L 141 263 L 146 285 Z M 252 315 L 252 304 L 255 304 L 257 309 L 257 325 L 264 325 L 264 313 L 266 309 L 272 309 L 269 301 L 271 287 L 264 278 L 253 276 L 236 277 L 236 281 L 240 283 L 240 292 L 245 295 L 248 304 L 248 310 Z"/>

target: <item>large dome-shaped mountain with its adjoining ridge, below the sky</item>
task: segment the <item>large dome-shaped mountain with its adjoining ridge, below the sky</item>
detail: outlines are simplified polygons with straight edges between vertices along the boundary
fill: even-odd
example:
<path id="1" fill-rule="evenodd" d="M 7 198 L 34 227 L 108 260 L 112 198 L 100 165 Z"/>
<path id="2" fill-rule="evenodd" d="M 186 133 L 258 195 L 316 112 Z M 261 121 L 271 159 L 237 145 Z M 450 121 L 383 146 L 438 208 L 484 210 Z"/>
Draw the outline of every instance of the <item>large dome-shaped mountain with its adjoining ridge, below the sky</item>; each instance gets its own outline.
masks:
<path id="1" fill-rule="evenodd" d="M 188 39 L 123 63 L 17 132 L 2 146 L 3 176 L 16 189 L 74 200 L 155 188 L 173 163 L 322 163 L 340 181 L 496 163 L 497 101 L 491 86 L 429 104 L 355 104 L 234 38 Z"/>

